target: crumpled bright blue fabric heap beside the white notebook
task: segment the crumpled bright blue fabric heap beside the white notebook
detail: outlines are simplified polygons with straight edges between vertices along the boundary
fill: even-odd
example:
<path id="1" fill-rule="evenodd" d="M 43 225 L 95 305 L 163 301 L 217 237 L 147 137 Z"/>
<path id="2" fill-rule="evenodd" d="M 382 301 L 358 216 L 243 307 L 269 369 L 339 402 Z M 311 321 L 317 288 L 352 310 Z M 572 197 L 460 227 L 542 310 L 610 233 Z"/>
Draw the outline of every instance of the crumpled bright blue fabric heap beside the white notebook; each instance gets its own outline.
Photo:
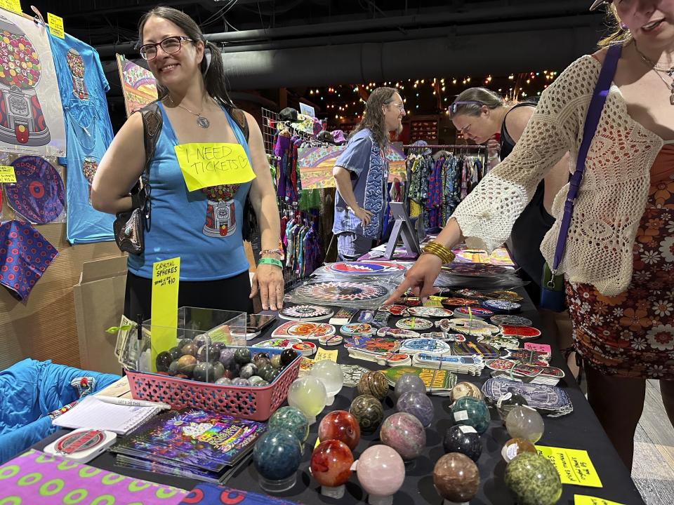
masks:
<path id="1" fill-rule="evenodd" d="M 30 358 L 0 372 L 0 464 L 56 431 L 47 414 L 79 398 L 70 382 L 83 376 L 94 378 L 93 391 L 119 380 Z"/>

